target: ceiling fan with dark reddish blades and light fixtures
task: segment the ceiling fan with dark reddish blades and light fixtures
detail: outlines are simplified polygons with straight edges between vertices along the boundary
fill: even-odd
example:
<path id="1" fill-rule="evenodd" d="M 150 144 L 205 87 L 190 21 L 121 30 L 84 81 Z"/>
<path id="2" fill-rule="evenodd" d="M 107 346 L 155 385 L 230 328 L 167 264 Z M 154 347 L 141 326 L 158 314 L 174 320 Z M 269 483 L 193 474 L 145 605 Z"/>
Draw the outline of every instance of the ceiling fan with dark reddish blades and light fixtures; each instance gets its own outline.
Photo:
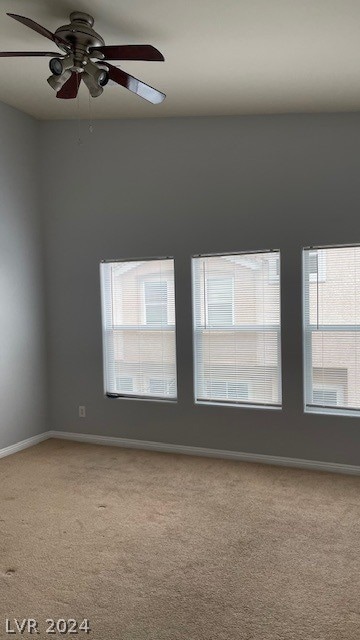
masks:
<path id="1" fill-rule="evenodd" d="M 59 27 L 55 33 L 30 18 L 14 13 L 7 15 L 52 40 L 62 50 L 62 55 L 47 51 L 0 52 L 0 57 L 3 58 L 51 57 L 49 67 L 52 75 L 48 78 L 48 83 L 56 91 L 57 98 L 67 100 L 76 98 L 81 80 L 87 86 L 90 95 L 96 98 L 102 94 L 108 81 L 112 80 L 153 104 L 159 104 L 165 99 L 166 96 L 161 91 L 108 62 L 108 60 L 164 61 L 164 56 L 155 47 L 149 44 L 106 46 L 103 38 L 93 29 L 94 18 L 81 11 L 73 11 L 70 14 L 70 24 Z"/>

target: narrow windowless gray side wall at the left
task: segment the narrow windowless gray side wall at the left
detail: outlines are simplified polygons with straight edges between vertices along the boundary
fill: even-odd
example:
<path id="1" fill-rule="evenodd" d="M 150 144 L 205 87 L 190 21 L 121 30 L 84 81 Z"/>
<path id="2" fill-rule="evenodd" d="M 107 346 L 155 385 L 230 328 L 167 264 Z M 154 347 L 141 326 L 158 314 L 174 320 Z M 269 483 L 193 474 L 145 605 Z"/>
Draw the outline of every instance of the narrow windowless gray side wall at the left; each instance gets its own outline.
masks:
<path id="1" fill-rule="evenodd" d="M 0 449 L 45 431 L 39 125 L 0 104 Z"/>

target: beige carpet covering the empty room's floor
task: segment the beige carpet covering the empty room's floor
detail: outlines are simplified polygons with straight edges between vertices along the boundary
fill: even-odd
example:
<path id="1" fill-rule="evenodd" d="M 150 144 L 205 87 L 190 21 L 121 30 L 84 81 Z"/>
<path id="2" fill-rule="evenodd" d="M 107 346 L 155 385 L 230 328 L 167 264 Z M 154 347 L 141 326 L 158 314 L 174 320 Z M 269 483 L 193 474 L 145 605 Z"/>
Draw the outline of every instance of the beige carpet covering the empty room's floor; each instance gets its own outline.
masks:
<path id="1" fill-rule="evenodd" d="M 360 478 L 58 440 L 0 460 L 5 617 L 93 640 L 359 640 Z M 90 620 L 87 636 L 47 618 Z"/>

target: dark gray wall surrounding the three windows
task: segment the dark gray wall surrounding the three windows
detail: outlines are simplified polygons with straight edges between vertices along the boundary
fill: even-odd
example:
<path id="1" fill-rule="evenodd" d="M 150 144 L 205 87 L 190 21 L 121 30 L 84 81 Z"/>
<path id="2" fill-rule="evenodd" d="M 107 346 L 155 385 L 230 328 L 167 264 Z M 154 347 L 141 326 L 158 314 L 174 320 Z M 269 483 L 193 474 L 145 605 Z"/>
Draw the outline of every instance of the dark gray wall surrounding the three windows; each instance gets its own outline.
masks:
<path id="1" fill-rule="evenodd" d="M 41 128 L 51 427 L 360 464 L 360 419 L 303 413 L 301 315 L 301 248 L 360 242 L 360 115 L 82 122 L 81 145 L 75 122 Z M 283 410 L 195 406 L 190 257 L 267 248 Z M 176 261 L 178 403 L 105 399 L 99 262 L 158 255 Z"/>

